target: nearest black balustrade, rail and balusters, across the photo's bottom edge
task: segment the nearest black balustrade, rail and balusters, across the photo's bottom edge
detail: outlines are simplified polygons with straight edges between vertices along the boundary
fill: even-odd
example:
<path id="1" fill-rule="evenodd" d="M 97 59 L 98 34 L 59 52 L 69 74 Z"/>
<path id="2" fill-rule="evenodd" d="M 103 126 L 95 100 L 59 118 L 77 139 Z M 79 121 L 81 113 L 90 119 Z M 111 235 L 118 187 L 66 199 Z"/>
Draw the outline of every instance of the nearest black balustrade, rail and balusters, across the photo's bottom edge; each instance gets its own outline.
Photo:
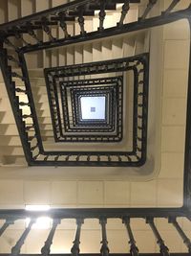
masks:
<path id="1" fill-rule="evenodd" d="M 41 253 L 35 253 L 32 255 L 190 255 L 191 250 L 191 242 L 190 238 L 186 235 L 184 230 L 180 226 L 180 221 L 183 220 L 190 220 L 190 211 L 185 207 L 181 208 L 119 208 L 119 209 L 53 209 L 49 210 L 48 212 L 28 212 L 25 210 L 0 210 L 0 220 L 5 220 L 5 224 L 3 224 L 0 228 L 0 236 L 6 235 L 7 228 L 11 224 L 11 229 L 14 228 L 15 221 L 25 221 L 26 218 L 30 218 L 29 225 L 23 231 L 20 238 L 15 245 L 11 248 L 10 253 L 0 253 L 0 255 L 31 255 L 21 253 L 22 246 L 25 243 L 30 241 L 28 238 L 31 230 L 32 225 L 35 224 L 35 221 L 39 217 L 49 217 L 53 220 L 53 224 L 50 227 L 50 231 L 48 233 L 47 240 L 41 247 Z M 59 253 L 54 254 L 52 252 L 52 244 L 56 243 L 56 239 L 54 239 L 54 234 L 56 229 L 59 228 L 59 224 L 61 221 L 65 220 L 75 220 L 76 221 L 76 230 L 74 233 L 74 243 L 71 244 L 71 253 Z M 141 249 L 138 249 L 138 242 L 135 235 L 135 230 L 131 226 L 131 221 L 137 220 L 145 221 L 145 228 L 146 225 L 150 226 L 151 231 L 153 232 L 153 236 L 156 238 L 156 244 L 159 247 L 159 253 L 142 253 Z M 86 225 L 86 221 L 95 220 L 97 224 L 100 224 L 100 252 L 97 251 L 95 253 L 86 253 L 80 252 L 80 243 L 82 242 L 80 239 L 80 235 L 83 234 L 83 229 L 81 228 L 82 225 Z M 168 248 L 168 239 L 166 241 L 160 235 L 160 228 L 155 224 L 156 221 L 166 220 L 166 226 L 174 227 L 174 231 L 180 237 L 180 241 L 182 241 L 185 246 L 187 247 L 187 253 L 181 253 L 180 251 L 174 253 L 171 252 Z M 95 222 L 94 221 L 94 222 Z M 126 253 L 114 253 L 110 251 L 110 244 L 114 241 L 110 240 L 107 237 L 107 221 L 121 221 L 123 223 L 124 230 L 127 231 L 127 252 Z M 33 229 L 35 232 L 35 229 Z M 64 231 L 63 231 L 64 232 Z M 32 238 L 31 238 L 32 239 Z M 84 242 L 84 241 L 83 241 Z M 88 243 L 88 242 L 87 242 Z M 65 247 L 65 241 L 63 240 L 63 248 Z M 141 244 L 142 246 L 142 244 Z M 142 246 L 144 247 L 144 246 Z"/>

